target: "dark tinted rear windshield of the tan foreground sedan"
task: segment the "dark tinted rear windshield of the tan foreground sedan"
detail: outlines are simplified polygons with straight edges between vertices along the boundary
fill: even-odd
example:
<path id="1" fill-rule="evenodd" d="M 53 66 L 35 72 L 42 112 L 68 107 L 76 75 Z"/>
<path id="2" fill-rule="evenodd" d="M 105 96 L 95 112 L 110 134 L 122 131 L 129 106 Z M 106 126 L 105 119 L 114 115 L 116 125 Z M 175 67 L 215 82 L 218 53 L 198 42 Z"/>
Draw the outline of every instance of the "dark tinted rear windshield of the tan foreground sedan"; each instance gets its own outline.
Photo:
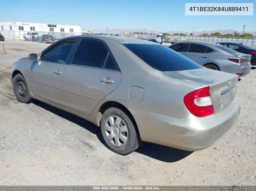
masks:
<path id="1" fill-rule="evenodd" d="M 123 44 L 140 59 L 162 72 L 193 70 L 202 68 L 201 65 L 182 56 L 174 50 L 153 44 Z"/>

